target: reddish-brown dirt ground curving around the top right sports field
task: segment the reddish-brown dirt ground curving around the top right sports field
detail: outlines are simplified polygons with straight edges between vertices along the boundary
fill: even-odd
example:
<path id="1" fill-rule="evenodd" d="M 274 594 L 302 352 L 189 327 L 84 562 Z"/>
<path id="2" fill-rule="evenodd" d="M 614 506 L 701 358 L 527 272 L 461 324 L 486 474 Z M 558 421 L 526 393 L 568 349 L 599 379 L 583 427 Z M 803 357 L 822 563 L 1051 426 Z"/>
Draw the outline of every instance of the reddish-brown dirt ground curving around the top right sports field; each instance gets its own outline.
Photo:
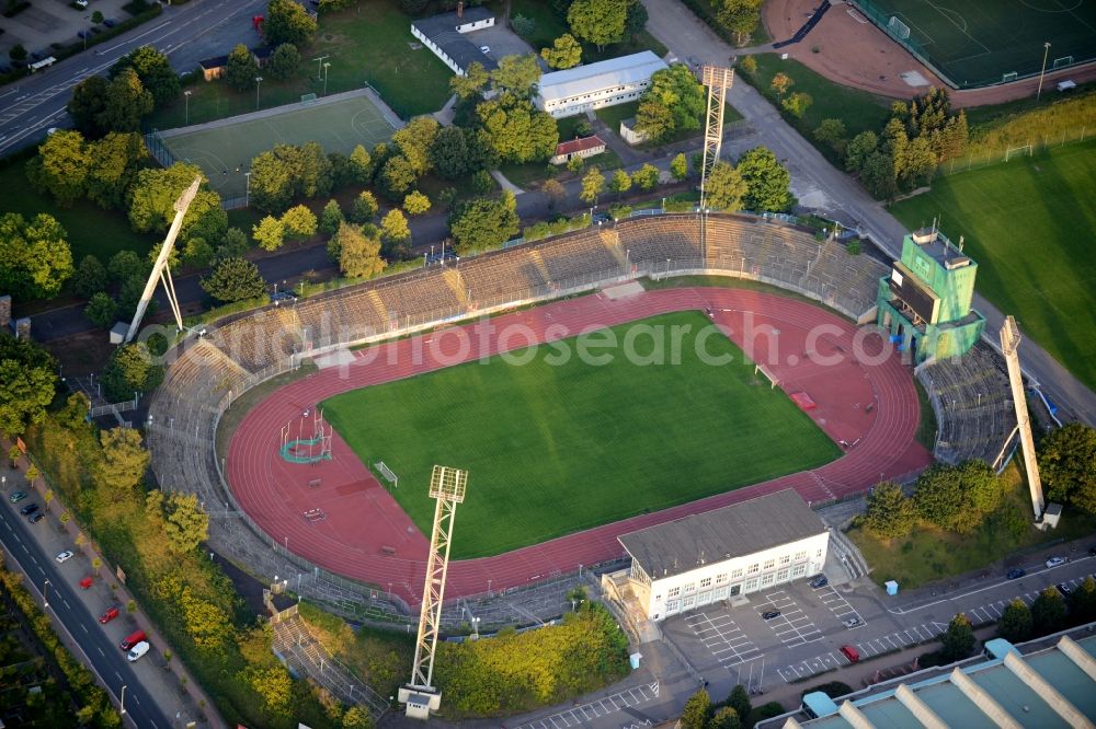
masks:
<path id="1" fill-rule="evenodd" d="M 776 40 L 790 38 L 815 5 L 817 0 L 769 0 L 763 10 L 765 27 Z M 928 86 L 912 86 L 903 80 L 902 76 L 910 72 L 920 73 L 931 85 L 946 85 L 932 69 L 844 2 L 834 4 L 801 43 L 785 46 L 780 53 L 831 81 L 893 99 L 913 99 L 927 91 Z M 1078 83 L 1096 79 L 1096 63 L 1047 73 L 1043 92 L 1048 88 L 1053 91 L 1054 83 L 1062 79 Z M 951 105 L 1001 104 L 1030 96 L 1038 86 L 1039 79 L 1035 78 L 973 91 L 951 90 Z"/>

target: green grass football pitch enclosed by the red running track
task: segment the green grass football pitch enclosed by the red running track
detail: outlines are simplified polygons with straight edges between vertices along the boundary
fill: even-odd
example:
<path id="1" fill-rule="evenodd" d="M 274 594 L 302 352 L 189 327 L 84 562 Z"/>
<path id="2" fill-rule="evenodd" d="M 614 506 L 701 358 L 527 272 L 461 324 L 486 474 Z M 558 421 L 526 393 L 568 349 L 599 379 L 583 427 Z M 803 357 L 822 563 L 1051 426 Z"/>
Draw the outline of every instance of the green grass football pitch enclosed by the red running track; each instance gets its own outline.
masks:
<path id="1" fill-rule="evenodd" d="M 338 395 L 323 403 L 323 412 L 364 463 L 383 460 L 399 475 L 395 497 L 424 533 L 434 516 L 426 488 L 432 466 L 468 470 L 452 554 L 459 559 L 658 511 L 840 455 L 781 390 L 758 381 L 726 336 L 708 337 L 701 351 L 730 355 L 731 363 L 713 366 L 697 355 L 698 333 L 711 326 L 703 314 L 666 314 L 612 332 L 623 343 L 633 326 L 687 326 L 680 363 L 631 363 L 619 349 L 609 350 L 608 364 L 576 356 L 560 364 L 553 343 L 537 348 L 527 363 L 493 357 L 459 364 Z M 650 338 L 636 340 L 638 352 L 650 350 Z M 572 355 L 575 342 L 562 343 Z"/>

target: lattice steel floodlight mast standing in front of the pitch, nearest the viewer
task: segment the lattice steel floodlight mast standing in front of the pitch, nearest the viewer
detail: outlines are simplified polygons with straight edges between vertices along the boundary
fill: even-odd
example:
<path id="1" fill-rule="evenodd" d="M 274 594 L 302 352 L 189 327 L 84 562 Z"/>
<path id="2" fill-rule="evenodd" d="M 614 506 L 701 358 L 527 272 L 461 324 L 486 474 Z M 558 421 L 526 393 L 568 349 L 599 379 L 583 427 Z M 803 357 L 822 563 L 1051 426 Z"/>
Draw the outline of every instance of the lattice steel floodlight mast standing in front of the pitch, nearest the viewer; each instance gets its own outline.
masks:
<path id="1" fill-rule="evenodd" d="M 400 701 L 408 705 L 408 716 L 425 719 L 431 709 L 441 703 L 434 688 L 434 655 L 442 627 L 442 600 L 445 597 L 445 576 L 449 569 L 449 544 L 453 541 L 453 520 L 457 505 L 465 500 L 468 472 L 461 468 L 435 465 L 430 477 L 430 496 L 434 506 L 434 529 L 426 557 L 426 579 L 419 613 L 419 635 L 415 639 L 411 683 L 400 688 Z M 423 705 L 419 702 L 426 699 Z"/>

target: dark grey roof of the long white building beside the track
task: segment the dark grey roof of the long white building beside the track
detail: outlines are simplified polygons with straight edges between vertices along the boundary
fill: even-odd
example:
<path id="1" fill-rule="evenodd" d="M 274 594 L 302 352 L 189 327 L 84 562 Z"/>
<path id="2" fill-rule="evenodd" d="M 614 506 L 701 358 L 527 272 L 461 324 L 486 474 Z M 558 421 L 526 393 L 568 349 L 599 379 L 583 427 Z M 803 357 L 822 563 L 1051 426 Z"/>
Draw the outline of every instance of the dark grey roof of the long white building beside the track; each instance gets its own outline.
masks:
<path id="1" fill-rule="evenodd" d="M 825 532 L 802 497 L 786 488 L 617 537 L 651 579 L 673 577 Z"/>

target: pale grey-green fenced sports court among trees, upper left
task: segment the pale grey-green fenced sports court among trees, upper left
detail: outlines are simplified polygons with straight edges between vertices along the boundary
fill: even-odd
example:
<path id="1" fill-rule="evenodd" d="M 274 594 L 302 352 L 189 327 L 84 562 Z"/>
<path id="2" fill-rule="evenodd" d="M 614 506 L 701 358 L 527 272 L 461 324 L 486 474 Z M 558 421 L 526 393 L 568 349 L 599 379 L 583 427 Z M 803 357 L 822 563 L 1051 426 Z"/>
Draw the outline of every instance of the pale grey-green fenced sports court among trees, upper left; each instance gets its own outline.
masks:
<path id="1" fill-rule="evenodd" d="M 392 126 L 365 95 L 279 106 L 258 114 L 160 132 L 176 160 L 202 167 L 209 186 L 225 199 L 243 197 L 251 160 L 275 144 L 317 141 L 326 152 L 350 154 L 387 141 Z"/>

